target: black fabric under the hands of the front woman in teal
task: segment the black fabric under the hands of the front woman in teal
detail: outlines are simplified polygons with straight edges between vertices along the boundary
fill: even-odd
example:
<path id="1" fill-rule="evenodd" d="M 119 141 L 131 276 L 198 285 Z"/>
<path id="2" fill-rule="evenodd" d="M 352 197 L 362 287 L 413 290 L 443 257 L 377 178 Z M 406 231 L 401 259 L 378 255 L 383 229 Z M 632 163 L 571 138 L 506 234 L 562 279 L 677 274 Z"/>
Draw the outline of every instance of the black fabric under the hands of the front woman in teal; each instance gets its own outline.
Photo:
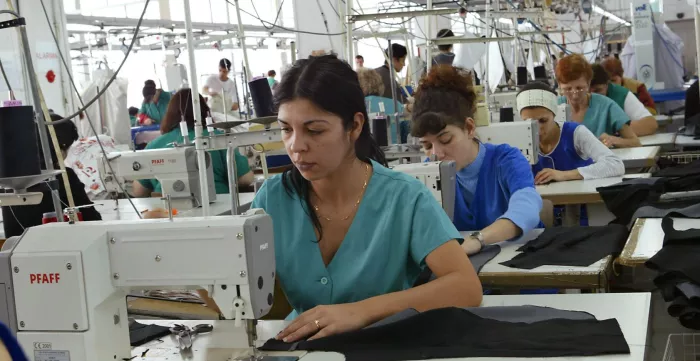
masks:
<path id="1" fill-rule="evenodd" d="M 629 354 L 617 320 L 497 321 L 457 308 L 314 341 L 269 340 L 266 351 L 340 352 L 347 361 L 457 357 L 559 357 Z"/>

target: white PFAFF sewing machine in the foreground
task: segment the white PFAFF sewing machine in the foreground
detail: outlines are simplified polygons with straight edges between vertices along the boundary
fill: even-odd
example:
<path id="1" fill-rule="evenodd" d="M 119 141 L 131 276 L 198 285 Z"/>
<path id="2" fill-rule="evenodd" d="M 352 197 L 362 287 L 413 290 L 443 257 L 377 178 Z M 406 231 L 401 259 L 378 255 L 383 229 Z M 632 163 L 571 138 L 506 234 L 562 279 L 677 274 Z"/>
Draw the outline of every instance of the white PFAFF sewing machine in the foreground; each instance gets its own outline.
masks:
<path id="1" fill-rule="evenodd" d="M 272 232 L 261 209 L 32 227 L 0 252 L 0 319 L 30 360 L 124 360 L 128 292 L 204 288 L 255 345 L 256 320 L 273 301 Z"/>

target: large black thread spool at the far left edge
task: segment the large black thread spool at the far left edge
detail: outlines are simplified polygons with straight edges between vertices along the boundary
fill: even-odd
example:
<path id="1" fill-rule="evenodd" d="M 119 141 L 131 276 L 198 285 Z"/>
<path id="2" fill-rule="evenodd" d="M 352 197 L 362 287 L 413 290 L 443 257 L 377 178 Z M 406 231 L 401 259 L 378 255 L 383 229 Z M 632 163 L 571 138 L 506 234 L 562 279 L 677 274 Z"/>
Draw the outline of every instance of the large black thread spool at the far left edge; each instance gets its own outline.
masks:
<path id="1" fill-rule="evenodd" d="M 36 132 L 33 107 L 0 108 L 0 178 L 41 173 Z"/>

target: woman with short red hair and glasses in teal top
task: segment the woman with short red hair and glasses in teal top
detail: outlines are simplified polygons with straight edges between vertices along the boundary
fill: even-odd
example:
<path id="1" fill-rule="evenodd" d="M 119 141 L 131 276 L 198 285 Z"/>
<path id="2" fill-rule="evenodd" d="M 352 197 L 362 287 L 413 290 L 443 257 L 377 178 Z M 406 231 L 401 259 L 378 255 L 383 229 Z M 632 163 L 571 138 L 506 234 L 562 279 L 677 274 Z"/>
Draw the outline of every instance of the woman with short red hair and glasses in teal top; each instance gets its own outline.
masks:
<path id="1" fill-rule="evenodd" d="M 561 58 L 557 62 L 556 77 L 564 93 L 559 97 L 559 104 L 571 105 L 572 121 L 585 125 L 608 147 L 641 147 L 625 111 L 610 98 L 590 93 L 593 68 L 583 55 Z"/>

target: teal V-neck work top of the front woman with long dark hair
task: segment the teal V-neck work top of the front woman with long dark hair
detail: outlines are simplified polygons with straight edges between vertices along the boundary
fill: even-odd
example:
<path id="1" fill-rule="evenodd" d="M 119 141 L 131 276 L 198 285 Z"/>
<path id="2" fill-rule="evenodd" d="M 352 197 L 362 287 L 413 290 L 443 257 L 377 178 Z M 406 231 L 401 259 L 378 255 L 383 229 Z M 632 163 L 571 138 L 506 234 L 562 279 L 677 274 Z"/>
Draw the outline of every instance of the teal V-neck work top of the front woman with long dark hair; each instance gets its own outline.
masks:
<path id="1" fill-rule="evenodd" d="M 326 266 L 306 202 L 268 179 L 252 208 L 272 217 L 277 276 L 294 312 L 411 288 L 425 257 L 462 237 L 425 185 L 372 162 L 372 177 L 345 239 Z"/>

